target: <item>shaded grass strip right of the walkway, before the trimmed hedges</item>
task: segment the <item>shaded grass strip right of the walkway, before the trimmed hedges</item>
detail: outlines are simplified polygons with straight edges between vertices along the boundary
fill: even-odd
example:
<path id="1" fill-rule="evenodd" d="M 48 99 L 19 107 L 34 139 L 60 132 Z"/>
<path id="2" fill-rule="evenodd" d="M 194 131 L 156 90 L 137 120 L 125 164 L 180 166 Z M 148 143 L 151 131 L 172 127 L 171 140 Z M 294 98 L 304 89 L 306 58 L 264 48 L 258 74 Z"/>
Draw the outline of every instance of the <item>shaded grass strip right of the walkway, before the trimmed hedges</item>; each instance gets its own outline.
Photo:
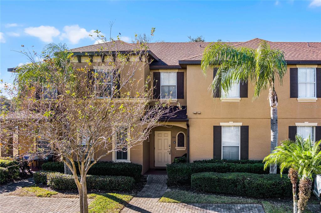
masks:
<path id="1" fill-rule="evenodd" d="M 312 198 L 313 199 L 313 198 Z M 195 193 L 173 189 L 165 192 L 159 202 L 167 203 L 214 203 L 214 204 L 261 204 L 266 213 L 292 213 L 292 201 L 261 200 L 237 196 Z M 309 203 L 314 203 L 311 201 Z M 305 212 L 309 212 L 306 210 Z"/>

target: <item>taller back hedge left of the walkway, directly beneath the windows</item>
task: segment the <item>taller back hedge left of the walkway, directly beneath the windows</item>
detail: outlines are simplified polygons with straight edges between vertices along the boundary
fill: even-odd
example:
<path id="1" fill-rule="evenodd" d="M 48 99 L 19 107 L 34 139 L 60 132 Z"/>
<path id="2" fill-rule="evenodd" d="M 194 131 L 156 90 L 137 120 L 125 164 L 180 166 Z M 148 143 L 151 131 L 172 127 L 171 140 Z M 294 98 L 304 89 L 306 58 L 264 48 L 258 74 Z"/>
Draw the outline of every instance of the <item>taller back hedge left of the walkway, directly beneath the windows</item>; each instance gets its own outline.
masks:
<path id="1" fill-rule="evenodd" d="M 62 162 L 44 163 L 42 164 L 42 169 L 61 173 L 64 173 L 65 171 L 64 163 Z M 91 166 L 87 174 L 103 176 L 128 176 L 133 177 L 136 181 L 139 181 L 141 179 L 142 169 L 142 165 L 137 163 L 99 161 Z"/>

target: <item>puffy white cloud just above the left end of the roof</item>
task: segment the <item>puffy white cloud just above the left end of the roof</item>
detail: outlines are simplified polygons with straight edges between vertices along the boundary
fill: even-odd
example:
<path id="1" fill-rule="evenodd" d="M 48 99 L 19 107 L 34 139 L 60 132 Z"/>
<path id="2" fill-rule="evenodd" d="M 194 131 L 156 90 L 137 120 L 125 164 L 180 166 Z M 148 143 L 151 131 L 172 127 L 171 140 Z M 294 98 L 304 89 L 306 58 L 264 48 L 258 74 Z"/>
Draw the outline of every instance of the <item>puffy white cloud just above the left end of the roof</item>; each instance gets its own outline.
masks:
<path id="1" fill-rule="evenodd" d="M 81 39 L 91 38 L 94 30 L 87 31 L 85 28 L 80 28 L 78 24 L 64 27 L 64 33 L 61 34 L 60 39 L 68 39 L 72 44 L 79 43 Z"/>

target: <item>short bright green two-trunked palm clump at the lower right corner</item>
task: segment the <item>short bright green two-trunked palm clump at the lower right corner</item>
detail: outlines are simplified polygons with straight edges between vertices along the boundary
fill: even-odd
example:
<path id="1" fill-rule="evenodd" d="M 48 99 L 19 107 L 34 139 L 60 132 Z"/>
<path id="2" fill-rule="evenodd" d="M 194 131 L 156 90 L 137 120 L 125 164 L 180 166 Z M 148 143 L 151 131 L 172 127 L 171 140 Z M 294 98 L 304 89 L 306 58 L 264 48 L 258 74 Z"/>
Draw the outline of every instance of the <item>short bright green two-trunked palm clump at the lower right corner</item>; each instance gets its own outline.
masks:
<path id="1" fill-rule="evenodd" d="M 282 141 L 281 146 L 265 157 L 264 168 L 270 164 L 280 165 L 281 175 L 285 168 L 290 168 L 289 178 L 292 183 L 293 212 L 302 213 L 311 195 L 312 175 L 321 173 L 320 141 L 313 143 L 310 138 L 297 135 L 295 142 Z M 299 177 L 299 201 L 296 196 L 296 184 Z"/>

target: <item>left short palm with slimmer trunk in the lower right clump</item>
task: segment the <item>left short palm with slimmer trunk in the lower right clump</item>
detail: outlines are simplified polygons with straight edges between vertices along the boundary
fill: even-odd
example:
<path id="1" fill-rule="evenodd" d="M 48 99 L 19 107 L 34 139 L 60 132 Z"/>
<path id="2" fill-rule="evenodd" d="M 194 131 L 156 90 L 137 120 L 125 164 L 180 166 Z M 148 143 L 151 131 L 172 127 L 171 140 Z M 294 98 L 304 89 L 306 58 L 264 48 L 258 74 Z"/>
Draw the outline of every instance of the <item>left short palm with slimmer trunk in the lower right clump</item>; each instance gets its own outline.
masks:
<path id="1" fill-rule="evenodd" d="M 293 193 L 293 213 L 297 213 L 298 197 L 297 197 L 297 183 L 298 183 L 298 165 L 294 162 L 293 154 L 296 151 L 296 144 L 291 140 L 281 141 L 281 146 L 275 147 L 273 152 L 266 156 L 263 160 L 265 162 L 264 169 L 270 165 L 278 164 L 280 166 L 280 174 L 284 169 L 289 169 L 288 177 L 292 183 Z"/>

